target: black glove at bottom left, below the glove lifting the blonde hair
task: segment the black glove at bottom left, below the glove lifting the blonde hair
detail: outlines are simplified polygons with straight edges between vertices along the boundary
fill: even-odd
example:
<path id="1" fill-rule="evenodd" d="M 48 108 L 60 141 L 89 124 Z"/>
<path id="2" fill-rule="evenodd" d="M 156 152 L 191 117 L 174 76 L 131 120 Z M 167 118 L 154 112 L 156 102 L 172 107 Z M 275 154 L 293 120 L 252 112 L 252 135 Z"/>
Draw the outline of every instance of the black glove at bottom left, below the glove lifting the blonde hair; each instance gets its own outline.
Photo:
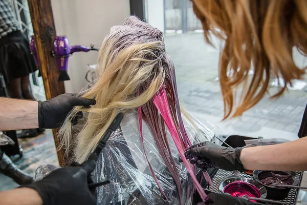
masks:
<path id="1" fill-rule="evenodd" d="M 35 189 L 44 205 L 95 205 L 96 190 L 87 186 L 93 183 L 90 178 L 96 167 L 94 160 L 87 160 L 82 165 L 57 169 L 45 178 L 21 187 Z"/>

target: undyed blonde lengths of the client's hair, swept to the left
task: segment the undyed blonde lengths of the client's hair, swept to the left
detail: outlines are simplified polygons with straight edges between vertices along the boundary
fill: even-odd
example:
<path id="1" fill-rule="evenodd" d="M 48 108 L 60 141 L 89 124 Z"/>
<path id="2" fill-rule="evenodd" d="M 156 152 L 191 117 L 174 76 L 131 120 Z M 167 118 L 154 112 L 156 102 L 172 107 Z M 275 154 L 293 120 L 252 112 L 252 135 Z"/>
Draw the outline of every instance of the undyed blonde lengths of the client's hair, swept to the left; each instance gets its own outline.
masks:
<path id="1" fill-rule="evenodd" d="M 94 151 L 121 109 L 133 109 L 147 103 L 165 79 L 161 56 L 152 52 L 156 50 L 163 53 L 164 45 L 161 42 L 138 43 L 124 48 L 127 46 L 125 43 L 118 44 L 117 37 L 120 36 L 115 33 L 103 41 L 99 52 L 98 81 L 83 95 L 86 98 L 96 98 L 97 104 L 90 109 L 76 107 L 59 132 L 62 145 L 70 151 L 70 142 L 73 140 L 70 119 L 80 111 L 89 113 L 74 147 L 74 160 L 78 162 L 84 161 Z M 114 45 L 119 47 L 114 49 Z M 148 56 L 152 56 L 152 59 Z M 137 88 L 145 83 L 148 88 L 137 95 Z"/>

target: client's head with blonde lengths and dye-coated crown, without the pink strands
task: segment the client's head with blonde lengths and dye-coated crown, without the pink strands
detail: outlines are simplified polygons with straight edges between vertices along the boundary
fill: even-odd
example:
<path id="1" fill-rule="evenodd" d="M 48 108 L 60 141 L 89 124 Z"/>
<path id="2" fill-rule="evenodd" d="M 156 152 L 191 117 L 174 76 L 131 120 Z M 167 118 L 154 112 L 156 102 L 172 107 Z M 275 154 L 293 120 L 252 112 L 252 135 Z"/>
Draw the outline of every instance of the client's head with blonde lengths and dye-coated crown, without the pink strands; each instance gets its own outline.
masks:
<path id="1" fill-rule="evenodd" d="M 165 52 L 163 33 L 130 16 L 123 26 L 114 26 L 99 49 L 98 79 L 84 97 L 96 98 L 91 109 L 75 108 L 89 113 L 85 126 L 71 144 L 69 119 L 60 131 L 63 145 L 74 146 L 74 160 L 84 161 L 95 149 L 112 119 L 122 109 L 146 104 L 169 79 L 171 58 Z M 71 150 L 71 149 L 69 149 Z"/>

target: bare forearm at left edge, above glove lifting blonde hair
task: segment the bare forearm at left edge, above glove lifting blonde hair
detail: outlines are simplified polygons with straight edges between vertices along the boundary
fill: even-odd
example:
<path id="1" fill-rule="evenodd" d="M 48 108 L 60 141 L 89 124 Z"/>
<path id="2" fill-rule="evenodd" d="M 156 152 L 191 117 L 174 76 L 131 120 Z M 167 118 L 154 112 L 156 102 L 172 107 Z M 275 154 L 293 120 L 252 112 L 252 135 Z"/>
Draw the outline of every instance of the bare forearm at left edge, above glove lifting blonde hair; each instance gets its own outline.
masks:
<path id="1" fill-rule="evenodd" d="M 0 97 L 0 130 L 38 128 L 38 103 Z"/>

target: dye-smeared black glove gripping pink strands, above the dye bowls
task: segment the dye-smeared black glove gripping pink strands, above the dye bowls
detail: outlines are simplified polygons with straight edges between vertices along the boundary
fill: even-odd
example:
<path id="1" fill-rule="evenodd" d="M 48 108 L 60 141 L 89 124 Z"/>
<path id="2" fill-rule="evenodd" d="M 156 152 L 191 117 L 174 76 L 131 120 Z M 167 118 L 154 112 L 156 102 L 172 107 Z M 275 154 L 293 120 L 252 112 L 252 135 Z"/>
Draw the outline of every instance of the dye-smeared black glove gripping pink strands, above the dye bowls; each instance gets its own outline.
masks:
<path id="1" fill-rule="evenodd" d="M 201 169 L 218 168 L 227 171 L 246 171 L 240 161 L 243 148 L 227 148 L 210 141 L 193 145 L 185 151 L 185 156 L 191 164 Z"/>

